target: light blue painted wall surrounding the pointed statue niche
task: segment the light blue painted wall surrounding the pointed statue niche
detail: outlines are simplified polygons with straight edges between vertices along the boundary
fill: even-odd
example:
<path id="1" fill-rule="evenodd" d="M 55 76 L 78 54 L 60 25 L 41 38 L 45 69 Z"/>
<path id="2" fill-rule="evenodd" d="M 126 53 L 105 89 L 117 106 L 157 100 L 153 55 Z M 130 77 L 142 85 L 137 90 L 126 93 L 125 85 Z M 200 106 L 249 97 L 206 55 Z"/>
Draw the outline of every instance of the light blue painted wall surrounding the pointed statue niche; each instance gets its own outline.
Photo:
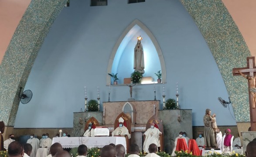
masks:
<path id="1" fill-rule="evenodd" d="M 28 104 L 20 104 L 14 127 L 72 127 L 73 112 L 84 109 L 85 85 L 89 99 L 97 98 L 99 86 L 100 102 L 107 101 L 109 57 L 120 35 L 135 19 L 149 28 L 163 52 L 166 98 L 175 98 L 178 81 L 179 103 L 181 109 L 193 109 L 193 126 L 203 125 L 206 108 L 216 113 L 218 125 L 236 125 L 232 106 L 230 114 L 218 102 L 219 96 L 225 100 L 229 96 L 212 53 L 178 0 L 133 4 L 109 0 L 108 6 L 102 7 L 72 0 L 55 20 L 38 53 L 25 86 L 31 89 L 33 98 Z M 129 77 L 130 72 L 126 75 L 123 72 L 120 78 Z M 156 85 L 156 90 L 157 99 L 162 100 L 162 85 Z M 129 87 L 111 87 L 111 101 L 129 97 Z M 135 86 L 133 97 L 154 99 L 153 85 Z"/>

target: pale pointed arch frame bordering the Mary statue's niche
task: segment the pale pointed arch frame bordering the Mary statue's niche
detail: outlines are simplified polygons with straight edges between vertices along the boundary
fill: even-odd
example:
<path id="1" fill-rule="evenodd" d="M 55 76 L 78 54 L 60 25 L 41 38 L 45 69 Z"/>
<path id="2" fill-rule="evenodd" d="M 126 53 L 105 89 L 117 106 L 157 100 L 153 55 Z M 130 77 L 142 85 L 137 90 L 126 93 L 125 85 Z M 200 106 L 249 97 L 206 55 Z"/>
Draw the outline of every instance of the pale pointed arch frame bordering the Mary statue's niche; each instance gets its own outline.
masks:
<path id="1" fill-rule="evenodd" d="M 129 24 L 128 27 L 126 27 L 126 29 L 123 31 L 123 34 L 116 41 L 116 44 L 115 44 L 115 46 L 114 46 L 114 48 L 112 50 L 111 56 L 109 58 L 107 74 L 108 73 L 112 73 L 111 70 L 112 70 L 112 66 L 113 66 L 113 61 L 115 59 L 116 52 L 117 52 L 117 50 L 119 48 L 119 45 L 121 44 L 121 42 L 125 38 L 126 34 L 128 34 L 128 32 L 135 25 L 138 25 L 141 29 L 143 29 L 143 31 L 146 32 L 146 34 L 149 36 L 150 40 L 154 44 L 154 47 L 156 48 L 157 55 L 158 55 L 159 60 L 160 60 L 160 66 L 161 66 L 161 72 L 162 72 L 162 82 L 166 82 L 166 68 L 165 68 L 165 62 L 164 62 L 164 56 L 163 56 L 162 50 L 161 50 L 161 48 L 160 48 L 160 46 L 159 46 L 159 44 L 157 42 L 157 39 L 154 37 L 154 35 L 151 33 L 151 31 L 142 22 L 140 22 L 140 20 L 138 20 L 138 19 L 133 20 L 133 22 L 131 24 Z M 109 85 L 110 82 L 111 82 L 111 78 L 109 77 L 109 75 L 107 75 L 106 76 L 106 84 Z"/>

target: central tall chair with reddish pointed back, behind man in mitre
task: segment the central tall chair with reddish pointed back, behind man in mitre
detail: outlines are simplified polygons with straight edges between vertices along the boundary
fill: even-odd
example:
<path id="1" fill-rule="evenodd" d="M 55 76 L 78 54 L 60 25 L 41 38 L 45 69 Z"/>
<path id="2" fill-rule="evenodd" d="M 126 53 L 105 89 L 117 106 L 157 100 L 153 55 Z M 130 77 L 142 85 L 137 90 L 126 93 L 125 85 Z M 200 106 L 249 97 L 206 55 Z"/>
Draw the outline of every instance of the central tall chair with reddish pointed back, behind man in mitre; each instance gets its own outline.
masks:
<path id="1" fill-rule="evenodd" d="M 124 119 L 123 125 L 126 126 L 126 128 L 128 129 L 129 133 L 131 134 L 131 119 L 129 116 L 127 116 L 125 113 L 120 113 L 115 120 L 114 123 L 114 128 L 116 129 L 117 127 L 119 127 L 119 121 L 118 119 L 122 117 Z M 129 152 L 129 147 L 130 147 L 130 139 L 128 139 L 127 136 L 125 136 L 125 140 L 126 140 L 126 152 Z"/>

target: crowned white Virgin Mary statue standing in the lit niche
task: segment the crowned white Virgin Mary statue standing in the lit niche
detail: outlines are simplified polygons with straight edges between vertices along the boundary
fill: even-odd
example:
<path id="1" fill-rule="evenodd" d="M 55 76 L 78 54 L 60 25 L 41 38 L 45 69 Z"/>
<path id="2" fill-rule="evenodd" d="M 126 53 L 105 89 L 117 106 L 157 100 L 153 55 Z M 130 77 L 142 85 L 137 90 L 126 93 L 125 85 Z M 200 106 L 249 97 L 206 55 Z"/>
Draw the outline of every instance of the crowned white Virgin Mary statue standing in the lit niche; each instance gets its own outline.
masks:
<path id="1" fill-rule="evenodd" d="M 138 37 L 137 39 L 138 39 L 138 41 L 134 48 L 133 69 L 134 69 L 134 72 L 140 72 L 140 73 L 144 74 L 145 66 L 144 66 L 144 52 L 143 52 L 143 47 L 141 44 L 142 37 Z"/>

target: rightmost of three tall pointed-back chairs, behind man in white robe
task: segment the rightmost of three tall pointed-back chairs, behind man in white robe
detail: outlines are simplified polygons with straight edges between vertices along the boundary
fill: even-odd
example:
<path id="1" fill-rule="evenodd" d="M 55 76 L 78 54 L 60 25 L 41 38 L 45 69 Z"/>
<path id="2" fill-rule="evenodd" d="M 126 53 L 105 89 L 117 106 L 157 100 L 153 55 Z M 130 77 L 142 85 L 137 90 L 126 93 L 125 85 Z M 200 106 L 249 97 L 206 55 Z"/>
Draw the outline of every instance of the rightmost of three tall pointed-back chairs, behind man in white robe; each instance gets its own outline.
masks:
<path id="1" fill-rule="evenodd" d="M 146 130 L 148 128 L 150 128 L 150 124 L 152 122 L 155 123 L 155 127 L 158 128 L 160 130 L 160 132 L 162 133 L 159 137 L 160 151 L 164 151 L 164 127 L 163 127 L 163 123 L 161 122 L 161 120 L 157 116 L 154 115 L 154 116 L 150 117 L 150 119 L 147 121 Z M 145 137 L 144 137 L 144 140 L 145 140 Z"/>

